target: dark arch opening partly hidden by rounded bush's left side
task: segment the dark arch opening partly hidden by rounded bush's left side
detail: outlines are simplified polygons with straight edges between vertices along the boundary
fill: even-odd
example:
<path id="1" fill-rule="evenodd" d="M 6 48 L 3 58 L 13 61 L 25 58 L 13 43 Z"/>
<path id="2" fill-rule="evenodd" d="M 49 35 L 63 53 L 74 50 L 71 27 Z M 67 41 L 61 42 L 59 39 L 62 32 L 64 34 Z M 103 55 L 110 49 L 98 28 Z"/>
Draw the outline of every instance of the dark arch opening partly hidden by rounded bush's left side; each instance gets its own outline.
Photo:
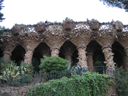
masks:
<path id="1" fill-rule="evenodd" d="M 41 63 L 41 58 L 43 56 L 50 56 L 51 51 L 50 47 L 46 43 L 40 43 L 34 50 L 33 57 L 32 57 L 32 64 L 34 66 L 35 72 L 39 72 L 39 65 Z"/>

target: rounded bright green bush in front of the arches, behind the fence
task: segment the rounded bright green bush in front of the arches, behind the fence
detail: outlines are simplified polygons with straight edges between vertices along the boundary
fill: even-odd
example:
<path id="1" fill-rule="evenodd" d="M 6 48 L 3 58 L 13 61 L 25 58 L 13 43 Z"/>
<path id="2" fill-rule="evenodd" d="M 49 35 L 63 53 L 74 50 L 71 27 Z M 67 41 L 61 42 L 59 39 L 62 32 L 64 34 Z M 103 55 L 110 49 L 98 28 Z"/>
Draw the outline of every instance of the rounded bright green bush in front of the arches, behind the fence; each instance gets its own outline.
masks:
<path id="1" fill-rule="evenodd" d="M 41 59 L 41 64 L 39 66 L 40 72 L 52 72 L 52 71 L 61 71 L 68 68 L 68 61 L 61 57 L 47 57 L 44 56 L 44 59 Z"/>

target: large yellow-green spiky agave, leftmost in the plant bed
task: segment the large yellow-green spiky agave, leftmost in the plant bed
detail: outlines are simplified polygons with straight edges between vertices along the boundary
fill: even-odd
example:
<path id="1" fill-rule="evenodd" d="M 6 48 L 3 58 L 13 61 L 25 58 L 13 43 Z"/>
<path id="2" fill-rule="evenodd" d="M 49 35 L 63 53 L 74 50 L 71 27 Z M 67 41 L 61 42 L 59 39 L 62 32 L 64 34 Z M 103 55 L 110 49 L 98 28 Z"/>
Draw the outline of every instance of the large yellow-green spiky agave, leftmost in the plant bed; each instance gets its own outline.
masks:
<path id="1" fill-rule="evenodd" d="M 16 66 L 15 63 L 11 62 L 2 73 L 2 79 L 11 82 L 20 75 L 19 66 Z"/>

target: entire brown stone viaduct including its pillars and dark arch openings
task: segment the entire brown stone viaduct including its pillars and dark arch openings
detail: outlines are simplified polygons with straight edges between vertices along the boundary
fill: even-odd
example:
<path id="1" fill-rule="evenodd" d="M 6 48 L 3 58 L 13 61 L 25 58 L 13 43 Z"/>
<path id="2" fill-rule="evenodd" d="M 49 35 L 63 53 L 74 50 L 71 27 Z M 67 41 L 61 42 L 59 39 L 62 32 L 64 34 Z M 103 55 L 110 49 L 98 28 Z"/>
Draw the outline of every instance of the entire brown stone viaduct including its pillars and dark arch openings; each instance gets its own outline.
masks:
<path id="1" fill-rule="evenodd" d="M 101 56 L 107 68 L 123 66 L 128 71 L 128 26 L 120 21 L 99 23 L 97 20 L 63 23 L 15 25 L 1 34 L 0 57 L 32 63 L 36 58 L 60 56 L 86 68 L 96 66 Z"/>

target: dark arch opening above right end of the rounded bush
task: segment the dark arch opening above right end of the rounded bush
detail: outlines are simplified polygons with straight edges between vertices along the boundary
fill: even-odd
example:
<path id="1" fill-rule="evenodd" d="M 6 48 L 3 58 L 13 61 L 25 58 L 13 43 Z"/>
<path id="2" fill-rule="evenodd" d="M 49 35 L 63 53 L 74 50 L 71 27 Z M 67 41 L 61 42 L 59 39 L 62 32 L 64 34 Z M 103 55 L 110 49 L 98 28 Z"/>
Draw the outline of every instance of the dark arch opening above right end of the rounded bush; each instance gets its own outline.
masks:
<path id="1" fill-rule="evenodd" d="M 71 63 L 73 66 L 78 63 L 78 51 L 76 49 L 77 47 L 71 41 L 65 41 L 60 48 L 59 56 L 69 60 L 69 63 Z"/>

